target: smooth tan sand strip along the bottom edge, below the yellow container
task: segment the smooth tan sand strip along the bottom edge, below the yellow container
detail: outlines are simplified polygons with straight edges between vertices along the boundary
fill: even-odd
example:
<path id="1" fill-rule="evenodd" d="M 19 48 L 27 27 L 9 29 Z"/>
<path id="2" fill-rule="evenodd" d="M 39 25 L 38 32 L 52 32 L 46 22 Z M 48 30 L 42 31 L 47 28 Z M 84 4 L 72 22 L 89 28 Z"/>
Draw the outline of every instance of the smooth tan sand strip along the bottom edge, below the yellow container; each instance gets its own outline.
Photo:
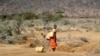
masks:
<path id="1" fill-rule="evenodd" d="M 46 51 L 44 53 L 36 53 L 34 48 L 22 48 L 22 46 L 19 45 L 1 44 L 0 56 L 83 56 L 83 54 L 72 54 L 59 51 Z"/>

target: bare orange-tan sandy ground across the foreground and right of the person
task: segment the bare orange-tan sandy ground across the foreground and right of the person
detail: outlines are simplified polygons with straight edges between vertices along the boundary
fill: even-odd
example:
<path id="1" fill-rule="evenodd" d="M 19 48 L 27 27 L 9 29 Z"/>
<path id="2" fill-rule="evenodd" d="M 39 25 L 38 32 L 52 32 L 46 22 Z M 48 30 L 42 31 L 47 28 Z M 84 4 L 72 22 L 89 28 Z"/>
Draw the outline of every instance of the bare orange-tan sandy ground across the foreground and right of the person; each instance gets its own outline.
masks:
<path id="1" fill-rule="evenodd" d="M 0 56 L 99 56 L 100 55 L 100 32 L 58 32 L 58 47 L 55 52 L 45 50 L 44 53 L 37 53 L 35 48 L 28 47 L 28 44 L 0 44 Z M 86 38 L 88 42 L 79 39 Z M 66 41 L 65 41 L 66 40 Z M 84 40 L 83 40 L 84 41 Z M 73 46 L 67 45 L 69 42 Z M 74 46 L 74 44 L 79 46 Z M 78 44 L 77 44 L 78 43 Z M 79 44 L 80 43 L 80 44 Z"/>

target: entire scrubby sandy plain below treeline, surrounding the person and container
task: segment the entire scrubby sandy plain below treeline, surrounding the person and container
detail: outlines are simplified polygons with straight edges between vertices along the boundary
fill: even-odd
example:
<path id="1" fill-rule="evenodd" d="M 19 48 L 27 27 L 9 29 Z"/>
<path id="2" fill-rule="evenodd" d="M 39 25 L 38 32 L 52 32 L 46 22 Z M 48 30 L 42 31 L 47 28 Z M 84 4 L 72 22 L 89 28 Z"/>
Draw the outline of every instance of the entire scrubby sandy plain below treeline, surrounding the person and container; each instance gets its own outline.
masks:
<path id="1" fill-rule="evenodd" d="M 19 20 L 0 21 L 0 56 L 100 56 L 98 18 L 64 18 L 47 23 L 41 19 Z M 58 46 L 52 52 L 45 36 L 54 24 L 58 26 Z M 44 46 L 43 53 L 35 50 L 40 45 Z"/>

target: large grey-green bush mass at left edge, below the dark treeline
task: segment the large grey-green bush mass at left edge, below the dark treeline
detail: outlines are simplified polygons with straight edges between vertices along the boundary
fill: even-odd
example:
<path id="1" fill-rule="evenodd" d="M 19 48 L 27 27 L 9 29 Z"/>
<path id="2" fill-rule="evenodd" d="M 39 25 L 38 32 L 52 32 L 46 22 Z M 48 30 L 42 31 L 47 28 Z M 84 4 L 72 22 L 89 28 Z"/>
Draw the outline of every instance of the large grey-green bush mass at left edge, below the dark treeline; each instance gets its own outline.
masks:
<path id="1" fill-rule="evenodd" d="M 19 35 L 19 28 L 21 22 L 18 20 L 3 20 L 0 24 L 0 39 L 3 43 L 13 44 L 17 42 L 17 35 Z"/>

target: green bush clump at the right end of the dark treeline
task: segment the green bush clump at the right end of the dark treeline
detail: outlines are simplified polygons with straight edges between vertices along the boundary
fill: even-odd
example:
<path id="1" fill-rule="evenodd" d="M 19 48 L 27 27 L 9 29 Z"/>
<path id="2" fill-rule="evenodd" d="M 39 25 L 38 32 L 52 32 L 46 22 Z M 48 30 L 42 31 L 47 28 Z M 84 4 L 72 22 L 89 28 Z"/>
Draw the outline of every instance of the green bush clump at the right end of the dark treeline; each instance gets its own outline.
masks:
<path id="1" fill-rule="evenodd" d="M 57 21 L 60 20 L 61 18 L 64 18 L 64 16 L 62 15 L 62 13 L 60 12 L 56 12 L 54 14 L 50 13 L 50 12 L 44 12 L 42 14 L 38 15 L 39 19 L 43 19 L 43 21 Z"/>

